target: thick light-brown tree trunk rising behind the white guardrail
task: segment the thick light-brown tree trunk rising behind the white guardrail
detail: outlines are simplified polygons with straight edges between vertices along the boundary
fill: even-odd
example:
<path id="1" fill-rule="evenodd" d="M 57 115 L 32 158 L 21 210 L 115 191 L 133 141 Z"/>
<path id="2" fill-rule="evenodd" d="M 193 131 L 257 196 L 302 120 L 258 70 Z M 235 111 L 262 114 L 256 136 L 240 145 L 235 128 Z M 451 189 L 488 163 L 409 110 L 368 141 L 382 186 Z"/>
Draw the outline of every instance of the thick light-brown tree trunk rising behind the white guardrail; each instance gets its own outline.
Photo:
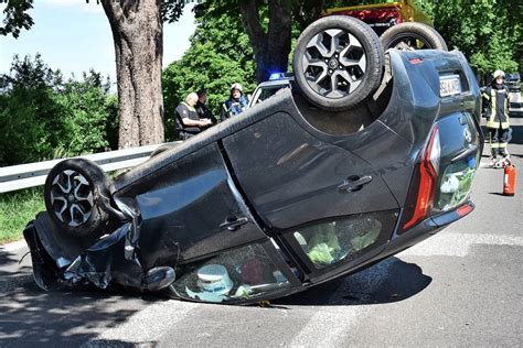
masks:
<path id="1" fill-rule="evenodd" d="M 161 0 L 102 0 L 115 42 L 118 148 L 163 142 Z"/>

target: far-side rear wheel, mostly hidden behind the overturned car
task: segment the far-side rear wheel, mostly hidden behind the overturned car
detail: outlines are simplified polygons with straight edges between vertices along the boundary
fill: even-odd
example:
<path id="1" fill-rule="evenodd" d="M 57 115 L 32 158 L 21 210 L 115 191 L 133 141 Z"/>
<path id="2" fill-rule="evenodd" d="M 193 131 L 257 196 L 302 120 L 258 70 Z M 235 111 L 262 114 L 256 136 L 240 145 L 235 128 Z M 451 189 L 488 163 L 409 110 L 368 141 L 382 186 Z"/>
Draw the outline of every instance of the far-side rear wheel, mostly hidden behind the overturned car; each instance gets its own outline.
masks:
<path id="1" fill-rule="evenodd" d="M 448 51 L 444 37 L 431 26 L 407 22 L 387 29 L 382 36 L 383 50 L 441 50 Z"/>

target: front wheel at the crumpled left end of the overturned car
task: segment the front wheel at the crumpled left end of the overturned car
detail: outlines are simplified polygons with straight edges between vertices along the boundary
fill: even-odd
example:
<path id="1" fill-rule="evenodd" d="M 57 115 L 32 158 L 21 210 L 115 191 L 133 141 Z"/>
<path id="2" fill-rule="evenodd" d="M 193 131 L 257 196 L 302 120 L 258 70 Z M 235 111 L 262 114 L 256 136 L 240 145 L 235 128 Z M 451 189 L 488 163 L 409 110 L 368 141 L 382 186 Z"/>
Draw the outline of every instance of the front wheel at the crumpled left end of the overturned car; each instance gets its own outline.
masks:
<path id="1" fill-rule="evenodd" d="M 53 222 L 75 237 L 104 233 L 109 217 L 102 209 L 102 197 L 109 195 L 109 181 L 104 171 L 85 159 L 56 164 L 44 186 L 45 208 Z"/>

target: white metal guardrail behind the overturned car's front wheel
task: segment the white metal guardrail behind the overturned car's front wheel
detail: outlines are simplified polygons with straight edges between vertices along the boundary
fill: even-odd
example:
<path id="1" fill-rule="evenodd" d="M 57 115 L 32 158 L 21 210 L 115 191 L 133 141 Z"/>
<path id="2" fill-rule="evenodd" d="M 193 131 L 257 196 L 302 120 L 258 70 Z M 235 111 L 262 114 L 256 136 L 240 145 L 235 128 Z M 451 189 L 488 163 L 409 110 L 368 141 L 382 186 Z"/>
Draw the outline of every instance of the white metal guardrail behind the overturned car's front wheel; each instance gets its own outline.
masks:
<path id="1" fill-rule="evenodd" d="M 158 146 L 160 145 L 146 145 L 78 157 L 97 163 L 104 172 L 111 172 L 132 167 L 145 162 Z M 65 159 L 0 167 L 0 193 L 43 185 L 51 168 L 64 160 Z"/>

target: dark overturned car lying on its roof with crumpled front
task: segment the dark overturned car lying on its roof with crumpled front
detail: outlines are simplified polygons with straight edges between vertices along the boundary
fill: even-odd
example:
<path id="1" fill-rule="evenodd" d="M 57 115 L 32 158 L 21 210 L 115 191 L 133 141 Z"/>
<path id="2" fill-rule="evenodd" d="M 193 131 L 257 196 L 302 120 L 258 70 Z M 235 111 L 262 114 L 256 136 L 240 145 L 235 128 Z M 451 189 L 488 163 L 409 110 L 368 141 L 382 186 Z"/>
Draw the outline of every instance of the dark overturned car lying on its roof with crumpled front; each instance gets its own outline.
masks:
<path id="1" fill-rule="evenodd" d="M 361 270 L 473 209 L 479 87 L 459 52 L 384 53 L 349 17 L 299 37 L 293 88 L 109 182 L 58 163 L 24 230 L 40 287 L 246 304 Z"/>

